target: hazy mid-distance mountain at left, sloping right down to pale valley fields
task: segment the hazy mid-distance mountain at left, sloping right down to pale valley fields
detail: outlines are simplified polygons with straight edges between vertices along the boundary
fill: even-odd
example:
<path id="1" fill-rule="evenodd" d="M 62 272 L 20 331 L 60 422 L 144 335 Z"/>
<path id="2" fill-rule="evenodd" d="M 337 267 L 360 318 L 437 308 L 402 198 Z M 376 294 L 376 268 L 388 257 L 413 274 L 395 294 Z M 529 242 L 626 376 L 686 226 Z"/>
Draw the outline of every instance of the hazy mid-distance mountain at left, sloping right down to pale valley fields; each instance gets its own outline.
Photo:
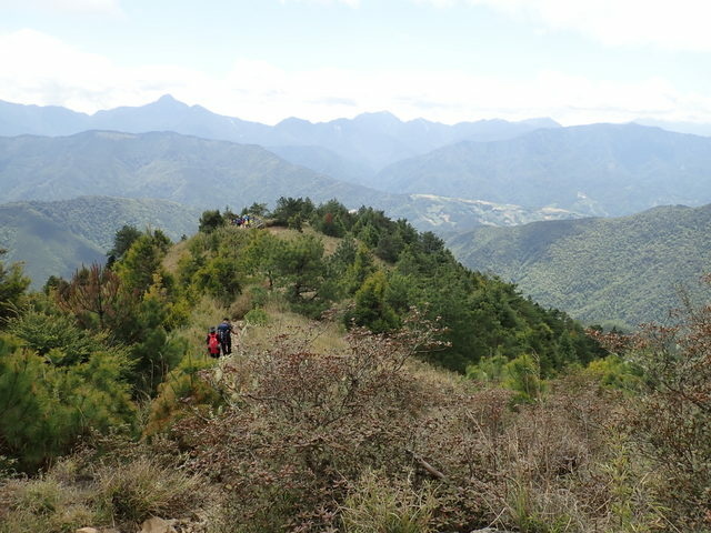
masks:
<path id="1" fill-rule="evenodd" d="M 158 198 L 198 209 L 236 210 L 253 202 L 273 205 L 279 197 L 309 197 L 314 202 L 336 198 L 352 209 L 371 205 L 407 218 L 421 230 L 441 232 L 575 215 L 383 193 L 291 164 L 261 147 L 172 132 L 0 138 L 0 202 L 81 195 Z"/>

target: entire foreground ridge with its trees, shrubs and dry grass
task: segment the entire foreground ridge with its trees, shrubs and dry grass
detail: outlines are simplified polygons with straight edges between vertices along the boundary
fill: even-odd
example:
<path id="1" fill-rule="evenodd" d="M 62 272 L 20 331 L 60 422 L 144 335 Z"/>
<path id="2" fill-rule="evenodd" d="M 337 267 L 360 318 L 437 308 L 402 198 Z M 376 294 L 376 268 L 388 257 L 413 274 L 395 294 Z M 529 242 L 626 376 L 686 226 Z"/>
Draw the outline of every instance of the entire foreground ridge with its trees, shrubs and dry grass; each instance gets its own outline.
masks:
<path id="1" fill-rule="evenodd" d="M 0 260 L 2 533 L 704 531 L 711 309 L 605 339 L 373 209 L 232 218 Z"/>

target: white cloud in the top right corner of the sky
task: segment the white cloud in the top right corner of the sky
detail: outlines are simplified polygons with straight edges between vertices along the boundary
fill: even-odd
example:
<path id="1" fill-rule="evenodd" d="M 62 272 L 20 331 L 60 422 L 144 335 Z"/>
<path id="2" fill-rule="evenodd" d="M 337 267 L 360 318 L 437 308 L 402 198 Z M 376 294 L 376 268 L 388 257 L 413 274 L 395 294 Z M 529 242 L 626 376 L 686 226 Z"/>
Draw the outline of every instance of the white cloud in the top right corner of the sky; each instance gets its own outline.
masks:
<path id="1" fill-rule="evenodd" d="M 445 8 L 487 6 L 553 30 L 585 34 L 607 46 L 654 46 L 711 51 L 708 0 L 414 0 Z"/>

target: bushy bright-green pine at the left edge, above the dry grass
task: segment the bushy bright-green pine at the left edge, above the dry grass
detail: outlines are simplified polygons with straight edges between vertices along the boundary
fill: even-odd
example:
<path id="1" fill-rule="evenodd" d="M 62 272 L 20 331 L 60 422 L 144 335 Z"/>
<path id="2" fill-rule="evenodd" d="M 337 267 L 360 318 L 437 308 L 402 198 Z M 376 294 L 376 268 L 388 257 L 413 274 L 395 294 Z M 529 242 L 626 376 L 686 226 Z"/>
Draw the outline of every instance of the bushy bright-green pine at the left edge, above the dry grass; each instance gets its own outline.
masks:
<path id="1" fill-rule="evenodd" d="M 136 409 L 128 368 L 121 349 L 99 346 L 87 362 L 53 366 L 19 340 L 0 336 L 0 455 L 33 471 L 92 429 L 130 428 Z"/>

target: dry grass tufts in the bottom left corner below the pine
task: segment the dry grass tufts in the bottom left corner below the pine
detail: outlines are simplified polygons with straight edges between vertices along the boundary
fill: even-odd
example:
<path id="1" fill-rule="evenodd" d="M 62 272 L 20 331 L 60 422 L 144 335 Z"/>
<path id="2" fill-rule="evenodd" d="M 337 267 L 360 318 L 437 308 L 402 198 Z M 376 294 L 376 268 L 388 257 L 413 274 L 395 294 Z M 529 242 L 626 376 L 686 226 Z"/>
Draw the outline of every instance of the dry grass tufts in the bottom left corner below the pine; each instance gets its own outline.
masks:
<path id="1" fill-rule="evenodd" d="M 211 506 L 203 480 L 156 455 L 99 463 L 81 454 L 36 479 L 0 485 L 0 532 L 72 533 L 80 527 L 137 531 L 150 516 L 182 517 Z"/>

